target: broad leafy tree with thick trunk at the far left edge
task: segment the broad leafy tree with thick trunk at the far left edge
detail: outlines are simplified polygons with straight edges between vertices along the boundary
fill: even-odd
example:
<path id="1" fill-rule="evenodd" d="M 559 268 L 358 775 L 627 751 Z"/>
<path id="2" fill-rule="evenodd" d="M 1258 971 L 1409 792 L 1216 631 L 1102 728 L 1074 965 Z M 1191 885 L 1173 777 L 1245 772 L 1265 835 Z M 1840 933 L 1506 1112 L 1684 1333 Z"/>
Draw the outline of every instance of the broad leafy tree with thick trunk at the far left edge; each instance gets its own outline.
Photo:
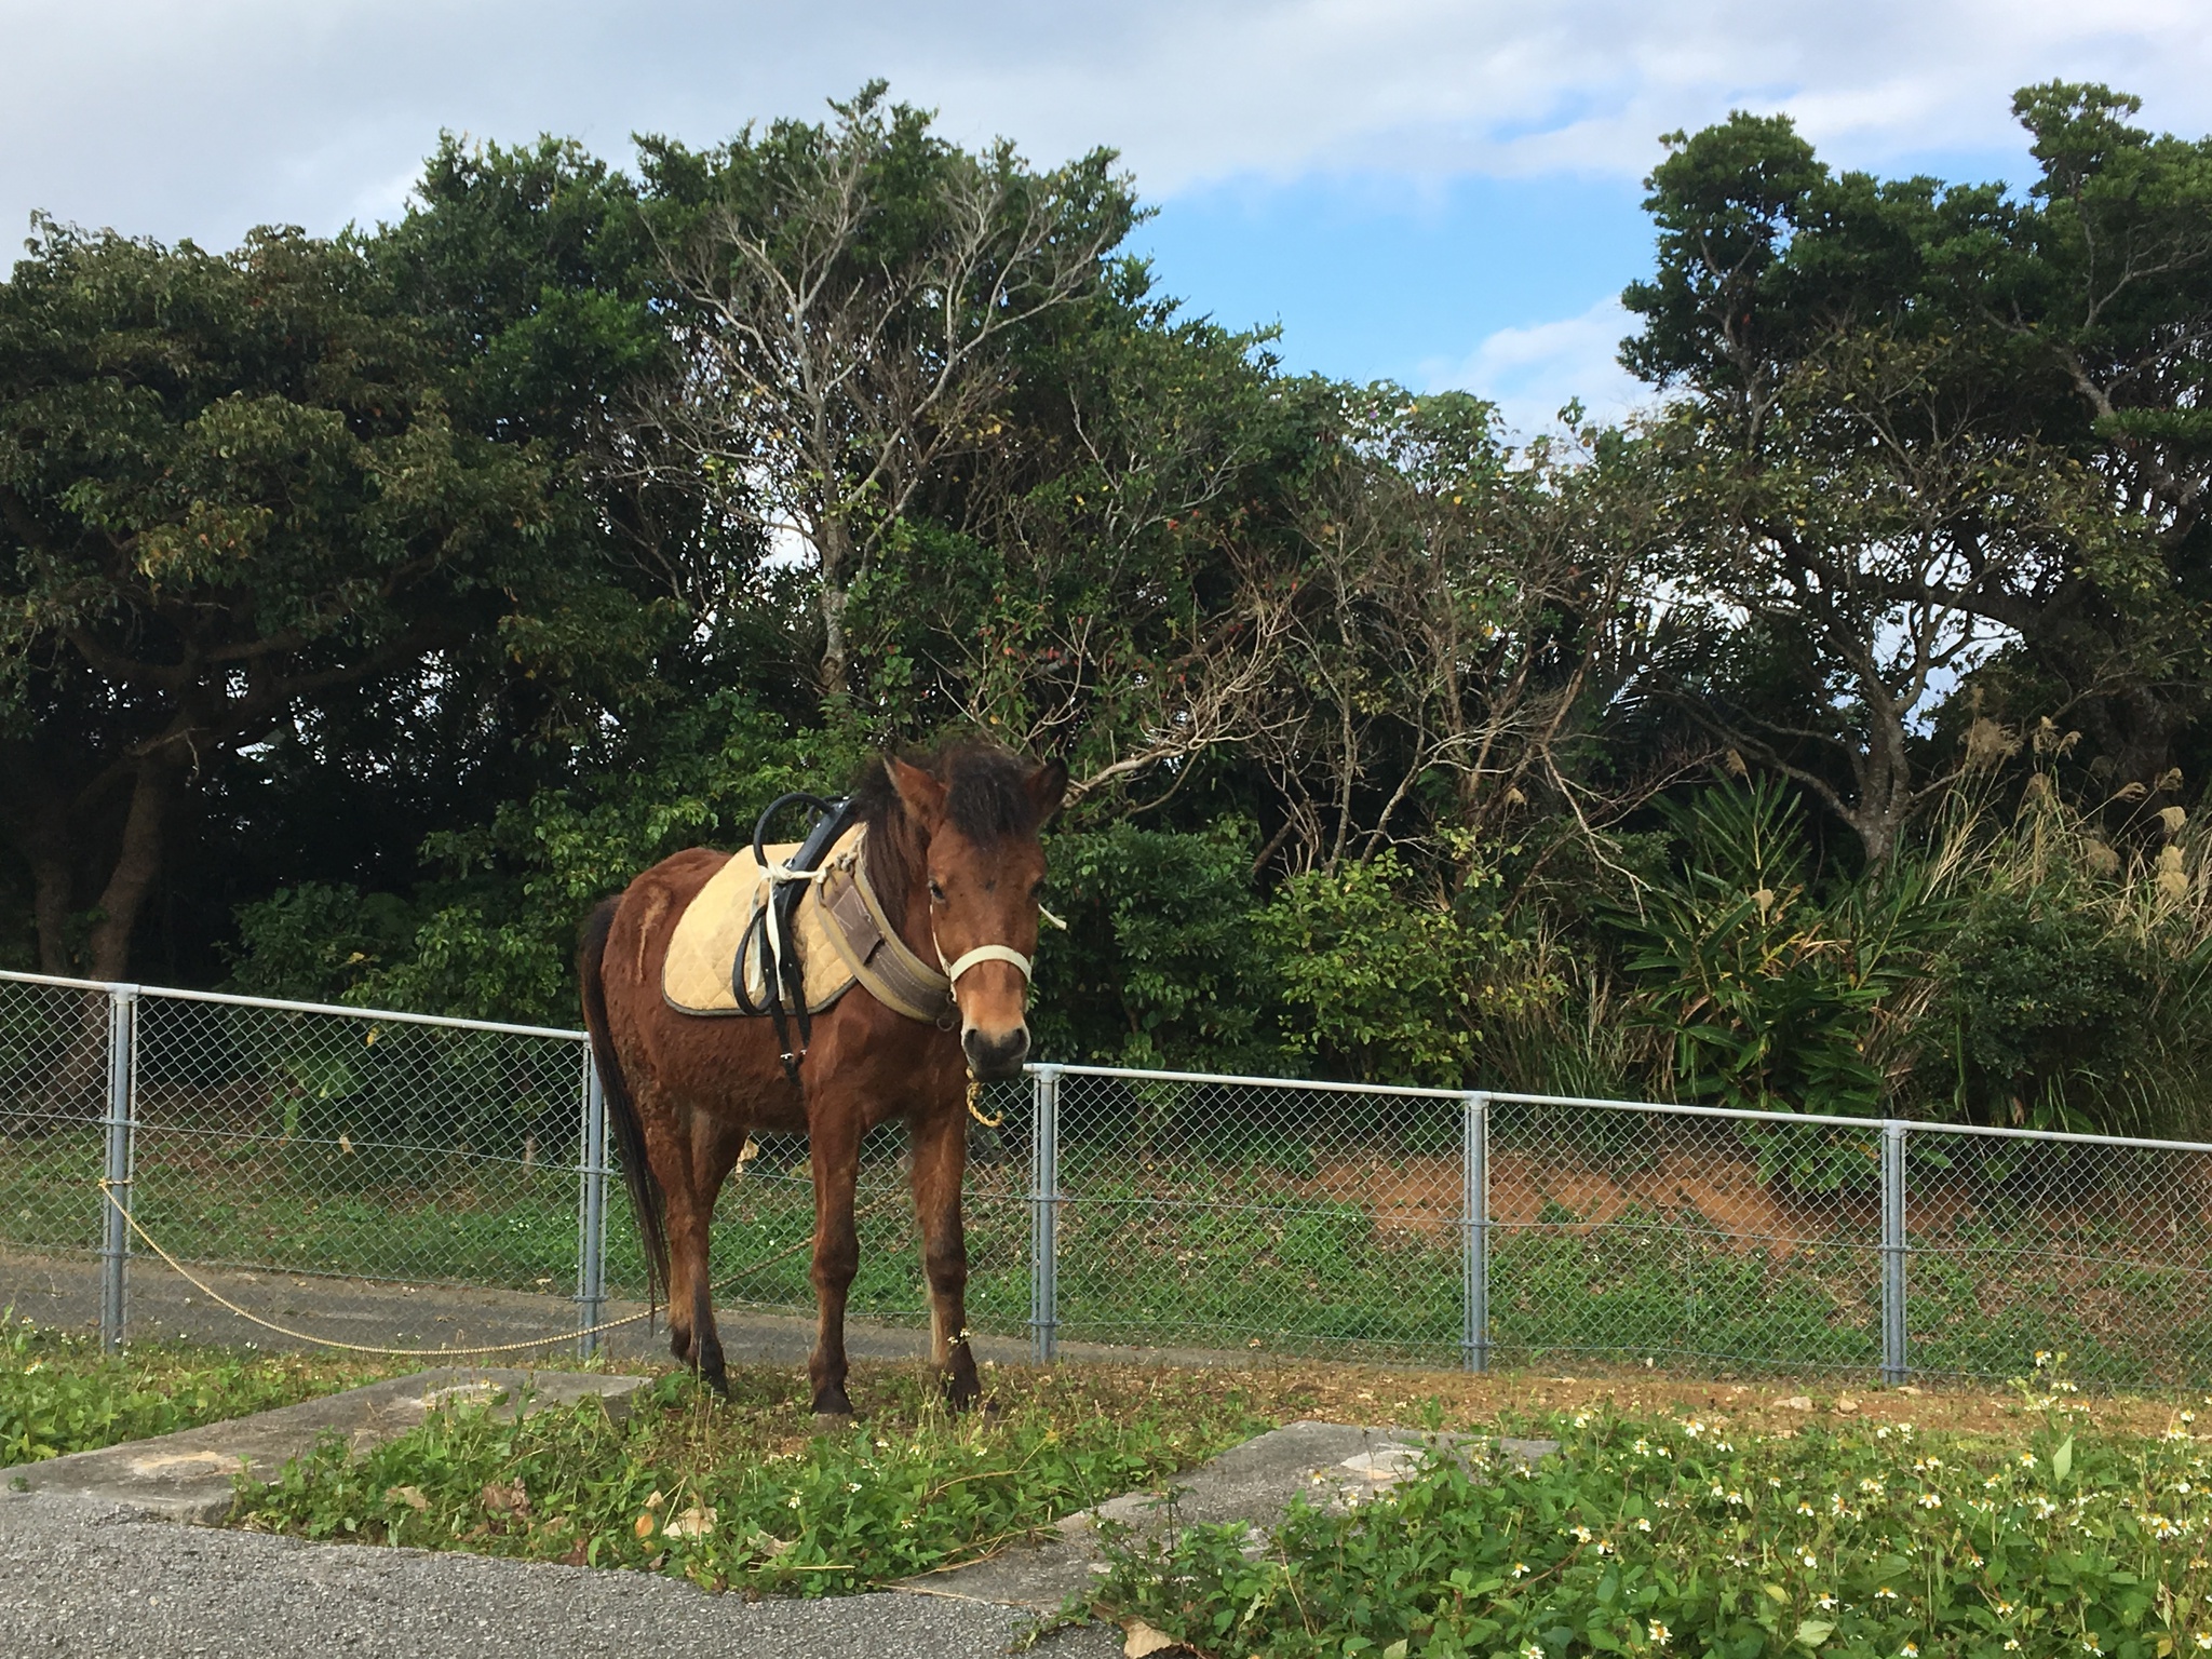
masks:
<path id="1" fill-rule="evenodd" d="M 557 471 L 449 385 L 358 237 L 42 226 L 0 288 L 0 827 L 49 971 L 124 975 L 179 805 L 241 750 L 604 608 Z"/>

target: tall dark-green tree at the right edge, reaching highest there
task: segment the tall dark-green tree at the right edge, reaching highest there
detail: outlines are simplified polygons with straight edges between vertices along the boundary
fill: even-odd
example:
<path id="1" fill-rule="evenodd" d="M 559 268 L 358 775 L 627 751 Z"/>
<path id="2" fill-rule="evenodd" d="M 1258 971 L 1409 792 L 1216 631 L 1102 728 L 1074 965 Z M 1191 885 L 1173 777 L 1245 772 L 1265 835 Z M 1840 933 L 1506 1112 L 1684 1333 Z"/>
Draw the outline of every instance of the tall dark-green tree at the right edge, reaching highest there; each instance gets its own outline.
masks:
<path id="1" fill-rule="evenodd" d="M 2208 668 L 2212 142 L 2152 137 L 2126 124 L 2137 108 L 2104 86 L 2020 93 L 2042 166 L 2026 201 L 1989 184 L 1832 175 L 1785 117 L 1677 133 L 1650 177 L 1659 268 L 1624 294 L 1644 319 L 1624 361 L 1754 469 L 1785 389 L 1843 398 L 1854 385 L 1836 367 L 1869 349 L 1933 374 L 1933 396 L 1916 394 L 1887 438 L 1858 422 L 1902 484 L 1949 478 L 1960 507 L 1962 456 L 1980 456 L 1966 471 L 2015 478 L 2073 467 L 2053 489 L 2095 484 L 2110 526 L 2095 546 L 1978 544 L 1975 511 L 1951 511 L 1958 560 L 1931 562 L 1920 588 L 1953 630 L 1975 617 L 2017 639 L 2031 695 L 2075 710 L 2119 779 L 2154 785 Z"/>

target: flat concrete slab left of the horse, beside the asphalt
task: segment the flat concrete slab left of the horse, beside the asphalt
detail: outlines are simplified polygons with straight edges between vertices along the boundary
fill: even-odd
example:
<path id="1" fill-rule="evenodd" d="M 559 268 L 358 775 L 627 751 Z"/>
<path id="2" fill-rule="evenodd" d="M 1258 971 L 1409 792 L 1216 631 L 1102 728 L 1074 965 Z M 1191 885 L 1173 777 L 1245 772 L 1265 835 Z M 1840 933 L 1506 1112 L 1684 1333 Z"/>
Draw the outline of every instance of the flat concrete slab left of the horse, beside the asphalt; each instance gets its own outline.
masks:
<path id="1" fill-rule="evenodd" d="M 274 1480 L 290 1458 L 312 1451 L 325 1433 L 343 1436 L 354 1451 L 365 1451 L 396 1440 L 436 1407 L 453 1402 L 487 1402 L 511 1416 L 518 1409 L 540 1411 L 597 1398 L 619 1413 L 650 1380 L 447 1365 L 230 1422 L 22 1464 L 9 1471 L 9 1484 L 18 1491 L 73 1493 L 157 1520 L 215 1524 L 230 1513 L 241 1471 Z"/>

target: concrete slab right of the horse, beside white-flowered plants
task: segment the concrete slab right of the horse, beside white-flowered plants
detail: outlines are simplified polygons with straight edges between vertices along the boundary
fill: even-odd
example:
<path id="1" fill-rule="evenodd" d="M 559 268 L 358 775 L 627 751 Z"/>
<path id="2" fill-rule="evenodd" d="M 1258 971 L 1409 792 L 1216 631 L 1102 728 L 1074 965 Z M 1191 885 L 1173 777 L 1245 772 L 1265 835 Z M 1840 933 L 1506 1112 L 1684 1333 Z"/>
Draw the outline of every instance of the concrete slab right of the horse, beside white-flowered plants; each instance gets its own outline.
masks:
<path id="1" fill-rule="evenodd" d="M 1292 1498 L 1305 1495 L 1307 1502 L 1332 1509 L 1349 1506 L 1409 1475 L 1427 1453 L 1473 1444 L 1495 1447 L 1524 1464 L 1559 1449 L 1557 1440 L 1491 1442 L 1482 1436 L 1427 1436 L 1418 1429 L 1285 1422 L 1230 1447 L 1161 1491 L 1126 1493 L 1068 1515 L 1048 1540 L 1009 1548 L 987 1562 L 922 1573 L 891 1588 L 1048 1613 L 1071 1595 L 1082 1595 L 1091 1577 L 1106 1571 L 1102 1524 L 1117 1522 L 1139 1537 L 1157 1537 L 1170 1526 L 1243 1522 L 1256 1535 L 1283 1520 Z"/>

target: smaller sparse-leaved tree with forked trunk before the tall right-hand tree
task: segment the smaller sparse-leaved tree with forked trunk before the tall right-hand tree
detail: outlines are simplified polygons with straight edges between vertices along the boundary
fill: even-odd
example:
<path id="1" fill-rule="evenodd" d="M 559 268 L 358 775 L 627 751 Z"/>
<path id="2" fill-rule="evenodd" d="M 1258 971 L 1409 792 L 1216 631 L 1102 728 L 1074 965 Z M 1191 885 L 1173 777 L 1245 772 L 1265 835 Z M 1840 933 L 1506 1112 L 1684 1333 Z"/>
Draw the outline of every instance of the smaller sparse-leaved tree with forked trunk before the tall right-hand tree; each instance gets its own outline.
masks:
<path id="1" fill-rule="evenodd" d="M 1690 407 L 1655 434 L 1686 526 L 1672 690 L 1812 790 L 1869 867 L 1951 776 L 1920 734 L 2011 637 L 1989 613 L 2130 551 L 2079 465 L 1993 418 L 1980 369 L 1971 343 L 1838 330 L 1756 411 Z"/>

